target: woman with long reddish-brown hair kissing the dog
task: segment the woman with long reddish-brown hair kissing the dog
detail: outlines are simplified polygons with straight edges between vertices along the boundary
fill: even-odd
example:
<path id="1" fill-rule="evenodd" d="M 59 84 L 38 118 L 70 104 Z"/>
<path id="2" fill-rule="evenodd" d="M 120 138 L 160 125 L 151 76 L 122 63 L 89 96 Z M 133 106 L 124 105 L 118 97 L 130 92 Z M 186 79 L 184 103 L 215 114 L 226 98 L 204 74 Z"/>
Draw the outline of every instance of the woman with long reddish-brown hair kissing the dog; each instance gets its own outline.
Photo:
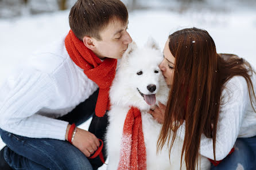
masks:
<path id="1" fill-rule="evenodd" d="M 255 72 L 242 58 L 223 56 L 208 32 L 195 27 L 176 31 L 165 44 L 160 69 L 169 100 L 150 114 L 162 123 L 158 150 L 168 142 L 170 152 L 176 135 L 184 139 L 188 170 L 196 169 L 199 154 L 212 160 L 211 169 L 256 167 Z"/>

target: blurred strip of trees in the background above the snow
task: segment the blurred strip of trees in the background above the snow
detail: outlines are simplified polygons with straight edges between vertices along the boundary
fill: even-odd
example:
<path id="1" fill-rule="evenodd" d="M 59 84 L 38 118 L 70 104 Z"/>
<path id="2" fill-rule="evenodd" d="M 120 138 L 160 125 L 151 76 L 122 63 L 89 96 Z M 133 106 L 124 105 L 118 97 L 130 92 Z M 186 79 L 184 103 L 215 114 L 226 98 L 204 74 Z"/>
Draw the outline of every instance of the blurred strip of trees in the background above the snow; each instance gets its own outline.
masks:
<path id="1" fill-rule="evenodd" d="M 182 12 L 190 7 L 200 10 L 208 7 L 212 10 L 227 10 L 228 4 L 237 3 L 238 7 L 254 7 L 255 0 L 121 0 L 129 11 L 137 9 L 167 9 Z M 49 13 L 66 10 L 76 0 L 0 0 L 0 18 L 13 18 L 22 15 Z M 233 5 L 234 6 L 234 5 Z"/>

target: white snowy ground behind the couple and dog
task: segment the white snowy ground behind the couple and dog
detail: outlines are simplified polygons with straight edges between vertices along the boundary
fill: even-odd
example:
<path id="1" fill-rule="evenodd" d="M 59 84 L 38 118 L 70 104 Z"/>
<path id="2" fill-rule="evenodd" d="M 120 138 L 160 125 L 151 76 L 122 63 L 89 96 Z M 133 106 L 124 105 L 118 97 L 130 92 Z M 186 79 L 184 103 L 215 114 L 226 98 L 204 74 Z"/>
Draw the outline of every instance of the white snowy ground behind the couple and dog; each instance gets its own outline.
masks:
<path id="1" fill-rule="evenodd" d="M 35 49 L 55 41 L 69 30 L 68 11 L 0 19 L 0 83 L 8 70 Z M 256 66 L 256 10 L 231 12 L 188 10 L 138 10 L 129 15 L 129 33 L 138 45 L 151 35 L 161 49 L 169 33 L 185 27 L 207 30 L 214 38 L 218 53 L 234 53 Z M 86 129 L 87 124 L 82 127 Z M 4 146 L 0 139 L 0 149 Z M 101 168 L 104 169 L 104 168 Z"/>

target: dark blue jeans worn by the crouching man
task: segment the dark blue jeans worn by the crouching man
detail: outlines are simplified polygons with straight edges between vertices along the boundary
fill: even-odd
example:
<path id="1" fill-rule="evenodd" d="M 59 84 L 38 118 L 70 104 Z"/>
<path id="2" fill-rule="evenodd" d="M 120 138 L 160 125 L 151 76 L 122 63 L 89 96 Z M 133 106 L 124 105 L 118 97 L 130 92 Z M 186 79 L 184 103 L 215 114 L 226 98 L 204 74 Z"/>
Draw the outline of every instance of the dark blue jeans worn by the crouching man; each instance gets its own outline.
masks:
<path id="1" fill-rule="evenodd" d="M 60 120 L 69 124 L 82 124 L 94 114 L 98 90 Z M 89 131 L 99 139 L 106 132 L 107 117 L 93 116 Z M 4 151 L 6 162 L 13 169 L 97 169 L 102 165 L 98 157 L 88 160 L 87 157 L 68 141 L 55 139 L 36 139 L 14 135 L 0 129 L 3 142 L 7 145 Z M 106 146 L 106 145 L 104 145 Z M 103 149 L 106 159 L 106 149 Z"/>

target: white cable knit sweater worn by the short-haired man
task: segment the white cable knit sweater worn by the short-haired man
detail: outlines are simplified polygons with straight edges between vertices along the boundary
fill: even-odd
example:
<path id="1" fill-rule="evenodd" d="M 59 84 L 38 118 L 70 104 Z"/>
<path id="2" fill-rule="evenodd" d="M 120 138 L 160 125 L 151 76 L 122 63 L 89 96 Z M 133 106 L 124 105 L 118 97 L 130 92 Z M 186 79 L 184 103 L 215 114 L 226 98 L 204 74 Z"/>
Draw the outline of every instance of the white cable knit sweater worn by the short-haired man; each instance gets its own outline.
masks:
<path id="1" fill-rule="evenodd" d="M 70 112 L 98 86 L 68 56 L 64 39 L 14 68 L 0 84 L 0 128 L 16 135 L 65 140 Z"/>

